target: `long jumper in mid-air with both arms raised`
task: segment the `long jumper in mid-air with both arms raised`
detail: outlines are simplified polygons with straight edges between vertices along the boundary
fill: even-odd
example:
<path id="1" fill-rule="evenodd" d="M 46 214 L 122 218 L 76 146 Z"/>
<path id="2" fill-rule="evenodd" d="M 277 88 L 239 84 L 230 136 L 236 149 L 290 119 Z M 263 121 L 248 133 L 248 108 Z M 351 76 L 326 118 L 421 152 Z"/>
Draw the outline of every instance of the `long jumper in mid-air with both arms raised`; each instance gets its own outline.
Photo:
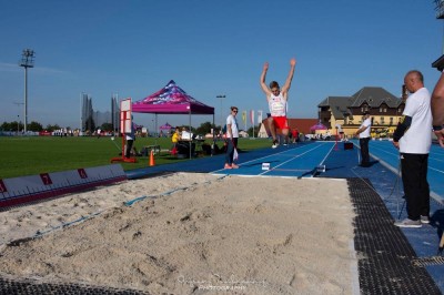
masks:
<path id="1" fill-rule="evenodd" d="M 285 139 L 289 138 L 289 122 L 286 119 L 286 101 L 287 93 L 290 90 L 291 82 L 293 80 L 294 68 L 296 67 L 296 60 L 293 58 L 290 60 L 290 72 L 286 78 L 285 84 L 282 90 L 276 81 L 270 82 L 270 88 L 265 84 L 266 71 L 269 70 L 269 63 L 265 62 L 262 74 L 261 74 L 261 88 L 266 94 L 266 101 L 269 102 L 271 116 L 268 119 L 271 135 L 273 136 L 272 148 L 278 148 L 276 129 L 282 130 L 282 134 Z"/>

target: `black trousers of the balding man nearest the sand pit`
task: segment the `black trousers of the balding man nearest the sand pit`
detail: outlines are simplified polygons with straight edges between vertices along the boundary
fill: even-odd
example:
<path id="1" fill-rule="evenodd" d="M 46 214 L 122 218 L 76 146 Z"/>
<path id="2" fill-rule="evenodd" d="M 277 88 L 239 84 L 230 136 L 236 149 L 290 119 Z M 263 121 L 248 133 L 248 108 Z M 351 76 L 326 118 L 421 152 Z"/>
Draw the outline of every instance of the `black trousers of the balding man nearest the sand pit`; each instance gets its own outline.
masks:
<path id="1" fill-rule="evenodd" d="M 428 154 L 401 153 L 401 173 L 407 215 L 412 221 L 428 216 L 430 187 L 427 182 Z"/>

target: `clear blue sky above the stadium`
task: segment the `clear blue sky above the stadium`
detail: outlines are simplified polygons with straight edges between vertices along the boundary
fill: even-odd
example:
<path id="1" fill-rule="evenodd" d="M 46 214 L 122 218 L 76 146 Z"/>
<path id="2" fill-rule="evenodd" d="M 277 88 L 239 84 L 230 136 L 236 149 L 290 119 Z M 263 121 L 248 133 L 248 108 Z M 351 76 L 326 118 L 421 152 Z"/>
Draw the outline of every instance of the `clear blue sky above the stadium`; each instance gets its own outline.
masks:
<path id="1" fill-rule="evenodd" d="M 432 0 L 23 0 L 0 3 L 0 122 L 23 121 L 23 49 L 36 51 L 29 70 L 28 121 L 78 128 L 80 93 L 110 110 L 112 93 L 141 100 L 174 80 L 215 108 L 220 124 L 230 105 L 266 112 L 259 85 L 284 82 L 291 118 L 317 118 L 329 95 L 363 87 L 401 93 L 405 72 L 424 73 L 443 52 L 443 20 Z M 216 95 L 224 94 L 222 101 Z M 134 115 L 153 126 L 152 114 Z M 240 118 L 239 118 L 240 119 Z M 186 115 L 160 115 L 159 124 L 188 124 Z M 193 125 L 212 121 L 195 116 Z"/>

